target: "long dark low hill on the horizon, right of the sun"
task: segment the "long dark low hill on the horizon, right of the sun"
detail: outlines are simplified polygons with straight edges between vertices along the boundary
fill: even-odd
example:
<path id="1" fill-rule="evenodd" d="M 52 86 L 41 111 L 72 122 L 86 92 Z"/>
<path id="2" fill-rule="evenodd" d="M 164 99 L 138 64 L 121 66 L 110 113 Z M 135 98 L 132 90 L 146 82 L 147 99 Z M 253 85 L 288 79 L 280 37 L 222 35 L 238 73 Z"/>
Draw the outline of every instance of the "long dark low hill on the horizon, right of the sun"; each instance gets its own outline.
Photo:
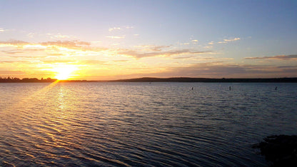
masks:
<path id="1" fill-rule="evenodd" d="M 150 78 L 144 77 L 139 79 L 119 79 L 114 80 L 115 82 L 297 82 L 297 78 L 272 78 L 272 79 L 206 79 L 206 78 Z"/>

